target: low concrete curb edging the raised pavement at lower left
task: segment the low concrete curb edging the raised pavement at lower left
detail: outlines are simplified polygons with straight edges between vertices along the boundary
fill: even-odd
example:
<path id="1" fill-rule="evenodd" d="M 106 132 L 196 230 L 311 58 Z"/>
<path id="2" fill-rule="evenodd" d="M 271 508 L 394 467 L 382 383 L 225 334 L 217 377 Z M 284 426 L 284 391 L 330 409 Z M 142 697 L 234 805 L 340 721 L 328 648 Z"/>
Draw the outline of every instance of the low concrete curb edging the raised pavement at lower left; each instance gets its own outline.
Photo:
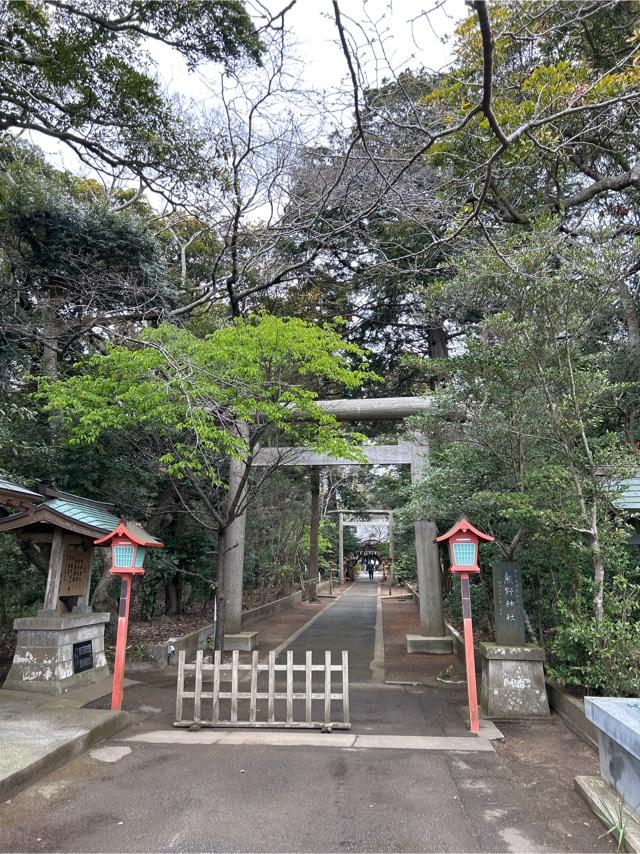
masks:
<path id="1" fill-rule="evenodd" d="M 86 732 L 76 738 L 61 744 L 59 747 L 40 756 L 23 768 L 7 774 L 0 779 L 0 798 L 5 799 L 10 795 L 30 786 L 32 783 L 45 777 L 62 765 L 66 765 L 74 756 L 84 753 L 92 745 L 105 738 L 109 738 L 130 724 L 138 720 L 137 716 L 129 712 L 109 712 L 109 716 L 90 726 Z"/>

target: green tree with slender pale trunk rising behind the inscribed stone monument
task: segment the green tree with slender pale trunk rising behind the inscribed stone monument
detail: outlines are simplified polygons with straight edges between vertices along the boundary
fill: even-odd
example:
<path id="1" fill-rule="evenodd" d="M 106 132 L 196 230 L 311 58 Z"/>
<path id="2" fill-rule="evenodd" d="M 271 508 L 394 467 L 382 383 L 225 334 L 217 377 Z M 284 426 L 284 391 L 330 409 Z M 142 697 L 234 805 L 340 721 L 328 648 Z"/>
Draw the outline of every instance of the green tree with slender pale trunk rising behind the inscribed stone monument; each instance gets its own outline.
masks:
<path id="1" fill-rule="evenodd" d="M 464 257 L 441 297 L 486 315 L 450 386 L 467 412 L 461 441 L 479 454 L 476 464 L 465 455 L 470 494 L 513 538 L 507 553 L 532 524 L 578 537 L 600 620 L 607 555 L 619 536 L 614 484 L 635 464 L 611 423 L 620 394 L 636 384 L 611 381 L 600 334 L 616 282 L 597 251 L 538 228 L 501 243 L 499 258 L 491 247 Z"/>

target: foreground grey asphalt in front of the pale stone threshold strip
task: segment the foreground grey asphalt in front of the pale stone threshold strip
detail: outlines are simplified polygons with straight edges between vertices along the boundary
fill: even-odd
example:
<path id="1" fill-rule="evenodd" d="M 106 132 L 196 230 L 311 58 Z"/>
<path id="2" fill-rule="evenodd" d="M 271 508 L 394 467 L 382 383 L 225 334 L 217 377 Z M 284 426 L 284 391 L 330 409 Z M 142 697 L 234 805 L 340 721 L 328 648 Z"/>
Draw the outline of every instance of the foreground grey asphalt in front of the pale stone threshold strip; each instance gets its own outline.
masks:
<path id="1" fill-rule="evenodd" d="M 557 850 L 494 754 L 131 746 L 5 805 L 0 850 Z"/>

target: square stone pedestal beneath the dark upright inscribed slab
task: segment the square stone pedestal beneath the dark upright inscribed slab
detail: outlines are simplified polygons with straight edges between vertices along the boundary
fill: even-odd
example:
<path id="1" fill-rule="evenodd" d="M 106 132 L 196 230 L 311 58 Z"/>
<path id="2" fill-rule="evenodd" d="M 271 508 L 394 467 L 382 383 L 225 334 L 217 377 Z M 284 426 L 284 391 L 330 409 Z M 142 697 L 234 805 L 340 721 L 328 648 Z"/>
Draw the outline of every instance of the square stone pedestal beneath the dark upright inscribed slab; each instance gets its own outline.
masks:
<path id="1" fill-rule="evenodd" d="M 480 655 L 480 704 L 488 718 L 549 717 L 542 647 L 481 643 Z"/>

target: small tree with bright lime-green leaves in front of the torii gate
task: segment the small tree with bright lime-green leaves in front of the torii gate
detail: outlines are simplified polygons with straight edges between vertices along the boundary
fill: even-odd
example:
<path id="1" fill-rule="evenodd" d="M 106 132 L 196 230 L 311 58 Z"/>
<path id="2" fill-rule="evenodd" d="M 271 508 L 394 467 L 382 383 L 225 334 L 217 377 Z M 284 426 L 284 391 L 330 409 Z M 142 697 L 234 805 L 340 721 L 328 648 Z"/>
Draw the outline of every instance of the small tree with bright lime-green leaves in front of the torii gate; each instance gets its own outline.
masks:
<path id="1" fill-rule="evenodd" d="M 159 444 L 155 465 L 178 492 L 187 485 L 197 496 L 201 511 L 183 503 L 217 535 L 218 645 L 226 531 L 277 468 L 276 462 L 251 477 L 259 444 L 304 444 L 359 458 L 357 437 L 322 412 L 311 387 L 318 381 L 359 387 L 371 378 L 363 358 L 328 327 L 261 315 L 204 338 L 168 325 L 146 330 L 137 344 L 111 347 L 76 376 L 43 386 L 72 442 L 92 444 L 106 432 L 142 427 Z M 241 462 L 239 478 L 228 489 L 234 461 Z"/>

